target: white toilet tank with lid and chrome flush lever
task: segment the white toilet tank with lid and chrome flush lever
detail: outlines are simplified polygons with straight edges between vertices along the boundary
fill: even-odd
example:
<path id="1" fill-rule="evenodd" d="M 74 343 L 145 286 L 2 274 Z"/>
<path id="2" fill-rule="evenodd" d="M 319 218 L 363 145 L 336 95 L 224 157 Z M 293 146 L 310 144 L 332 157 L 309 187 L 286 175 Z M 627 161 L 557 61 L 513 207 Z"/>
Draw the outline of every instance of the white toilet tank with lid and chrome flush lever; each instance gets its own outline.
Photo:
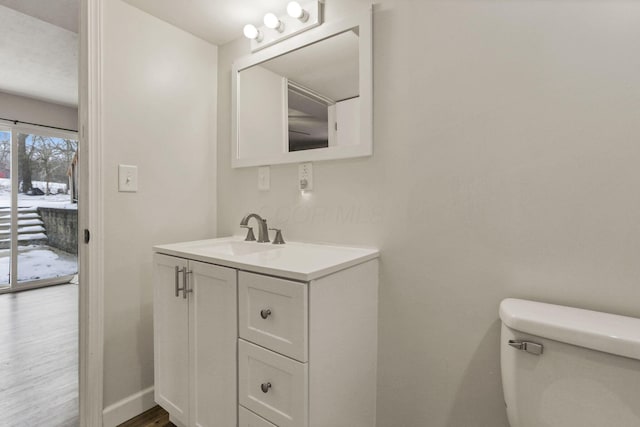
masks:
<path id="1" fill-rule="evenodd" d="M 640 427 L 640 319 L 518 299 L 500 319 L 511 427 Z"/>

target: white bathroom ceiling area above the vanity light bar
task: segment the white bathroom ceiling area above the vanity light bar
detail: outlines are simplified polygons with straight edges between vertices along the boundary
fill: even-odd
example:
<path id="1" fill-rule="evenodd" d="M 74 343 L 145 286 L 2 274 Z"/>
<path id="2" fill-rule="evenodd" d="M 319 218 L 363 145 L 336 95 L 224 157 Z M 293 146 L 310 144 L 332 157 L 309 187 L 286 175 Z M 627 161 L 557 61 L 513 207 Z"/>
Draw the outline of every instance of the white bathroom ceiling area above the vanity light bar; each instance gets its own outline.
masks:
<path id="1" fill-rule="evenodd" d="M 242 36 L 245 24 L 262 26 L 267 12 L 286 13 L 288 0 L 124 0 L 216 45 Z"/>

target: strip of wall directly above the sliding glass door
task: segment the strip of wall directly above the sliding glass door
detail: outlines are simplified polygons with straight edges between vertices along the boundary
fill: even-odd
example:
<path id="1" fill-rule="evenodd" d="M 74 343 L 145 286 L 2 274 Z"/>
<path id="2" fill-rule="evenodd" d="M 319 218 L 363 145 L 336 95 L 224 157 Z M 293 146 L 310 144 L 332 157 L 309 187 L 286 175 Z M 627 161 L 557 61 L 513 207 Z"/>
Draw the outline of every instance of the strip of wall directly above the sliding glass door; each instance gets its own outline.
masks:
<path id="1" fill-rule="evenodd" d="M 5 92 L 0 92 L 0 117 L 64 129 L 78 129 L 77 108 Z"/>

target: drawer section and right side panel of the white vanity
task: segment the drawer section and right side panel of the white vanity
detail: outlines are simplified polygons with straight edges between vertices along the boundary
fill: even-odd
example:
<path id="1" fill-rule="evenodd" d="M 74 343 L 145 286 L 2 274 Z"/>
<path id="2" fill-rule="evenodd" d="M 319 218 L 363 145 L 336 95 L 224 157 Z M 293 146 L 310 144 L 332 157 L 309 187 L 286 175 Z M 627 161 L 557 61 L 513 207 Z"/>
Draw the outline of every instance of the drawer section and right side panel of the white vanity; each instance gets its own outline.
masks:
<path id="1" fill-rule="evenodd" d="M 378 263 L 296 282 L 238 275 L 240 427 L 375 426 Z M 253 421 L 251 421 L 253 420 Z"/>

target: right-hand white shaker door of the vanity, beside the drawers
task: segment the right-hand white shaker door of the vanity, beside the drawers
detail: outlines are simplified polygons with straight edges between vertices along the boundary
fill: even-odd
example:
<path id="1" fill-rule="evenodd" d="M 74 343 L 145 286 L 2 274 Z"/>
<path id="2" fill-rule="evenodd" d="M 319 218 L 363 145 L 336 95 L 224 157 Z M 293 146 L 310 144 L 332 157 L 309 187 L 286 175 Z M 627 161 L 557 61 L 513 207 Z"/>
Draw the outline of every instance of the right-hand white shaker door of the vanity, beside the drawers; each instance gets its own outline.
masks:
<path id="1" fill-rule="evenodd" d="M 191 426 L 237 424 L 236 270 L 189 261 Z"/>

